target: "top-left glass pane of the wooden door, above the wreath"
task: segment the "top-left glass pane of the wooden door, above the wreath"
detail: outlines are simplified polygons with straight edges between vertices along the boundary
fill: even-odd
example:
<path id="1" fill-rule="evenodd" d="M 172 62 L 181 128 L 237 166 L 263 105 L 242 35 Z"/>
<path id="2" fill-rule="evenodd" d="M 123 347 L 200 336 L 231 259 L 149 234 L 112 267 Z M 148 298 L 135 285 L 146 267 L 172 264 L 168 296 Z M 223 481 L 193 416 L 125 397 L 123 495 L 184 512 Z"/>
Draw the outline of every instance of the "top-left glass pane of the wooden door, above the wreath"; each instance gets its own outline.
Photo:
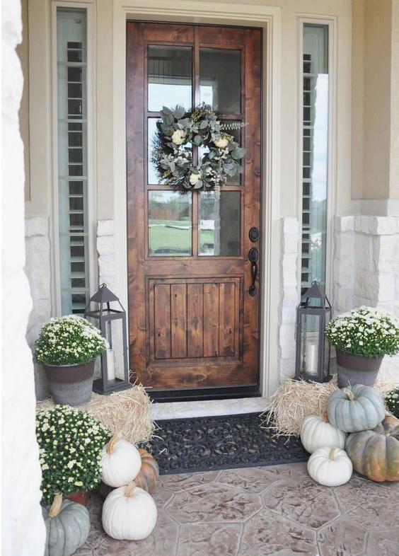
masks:
<path id="1" fill-rule="evenodd" d="M 191 108 L 192 48 L 170 45 L 149 46 L 148 109 L 159 112 L 163 106 Z"/>

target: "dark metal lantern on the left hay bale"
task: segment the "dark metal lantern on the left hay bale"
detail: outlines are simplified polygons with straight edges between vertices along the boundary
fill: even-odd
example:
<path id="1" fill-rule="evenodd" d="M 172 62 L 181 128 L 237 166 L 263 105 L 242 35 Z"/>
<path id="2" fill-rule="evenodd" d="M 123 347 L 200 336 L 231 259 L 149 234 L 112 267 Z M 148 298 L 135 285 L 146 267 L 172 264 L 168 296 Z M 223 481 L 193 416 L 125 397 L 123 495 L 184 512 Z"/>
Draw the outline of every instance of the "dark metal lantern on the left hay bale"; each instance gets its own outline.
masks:
<path id="1" fill-rule="evenodd" d="M 115 302 L 119 303 L 117 309 L 110 306 L 110 303 Z M 98 309 L 89 311 L 91 303 L 98 303 Z M 110 394 L 130 388 L 126 313 L 119 298 L 112 294 L 107 284 L 101 284 L 88 302 L 84 315 L 97 321 L 101 334 L 109 344 L 107 351 L 101 356 L 101 378 L 93 382 L 93 390 L 99 394 Z"/>

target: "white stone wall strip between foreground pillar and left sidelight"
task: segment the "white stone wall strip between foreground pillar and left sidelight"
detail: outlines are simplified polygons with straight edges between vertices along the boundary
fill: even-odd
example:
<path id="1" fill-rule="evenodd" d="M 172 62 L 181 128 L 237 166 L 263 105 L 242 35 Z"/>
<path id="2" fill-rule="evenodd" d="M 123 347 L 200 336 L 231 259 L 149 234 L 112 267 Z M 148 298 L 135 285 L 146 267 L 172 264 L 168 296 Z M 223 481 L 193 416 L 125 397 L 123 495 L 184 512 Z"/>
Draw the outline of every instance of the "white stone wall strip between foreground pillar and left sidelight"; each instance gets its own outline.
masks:
<path id="1" fill-rule="evenodd" d="M 33 308 L 29 315 L 26 340 L 30 348 L 42 325 L 52 315 L 50 230 L 47 216 L 25 218 L 25 274 L 30 284 Z M 35 391 L 37 400 L 44 400 L 50 390 L 42 365 L 35 363 Z"/>

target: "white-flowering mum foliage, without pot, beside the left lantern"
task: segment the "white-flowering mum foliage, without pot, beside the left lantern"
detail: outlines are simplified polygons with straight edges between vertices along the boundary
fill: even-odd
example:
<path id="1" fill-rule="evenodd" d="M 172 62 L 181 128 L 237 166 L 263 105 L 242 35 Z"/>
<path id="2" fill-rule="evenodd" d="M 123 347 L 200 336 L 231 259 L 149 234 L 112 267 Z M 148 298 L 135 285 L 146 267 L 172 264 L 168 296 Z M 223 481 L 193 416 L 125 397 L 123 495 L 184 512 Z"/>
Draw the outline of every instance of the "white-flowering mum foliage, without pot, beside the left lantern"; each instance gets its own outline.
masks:
<path id="1" fill-rule="evenodd" d="M 67 315 L 46 323 L 35 344 L 35 359 L 49 365 L 93 361 L 107 349 L 100 330 L 86 318 Z"/>

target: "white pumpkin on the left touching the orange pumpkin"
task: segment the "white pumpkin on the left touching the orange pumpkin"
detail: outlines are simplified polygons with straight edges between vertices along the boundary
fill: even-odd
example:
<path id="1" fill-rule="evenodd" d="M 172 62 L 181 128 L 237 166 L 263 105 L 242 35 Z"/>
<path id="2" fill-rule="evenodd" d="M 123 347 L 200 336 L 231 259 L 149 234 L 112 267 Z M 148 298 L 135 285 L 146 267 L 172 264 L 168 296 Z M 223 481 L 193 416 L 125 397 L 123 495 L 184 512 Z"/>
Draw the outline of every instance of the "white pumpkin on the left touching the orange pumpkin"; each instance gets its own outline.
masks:
<path id="1" fill-rule="evenodd" d="M 136 446 L 120 438 L 112 439 L 103 448 L 101 456 L 101 480 L 109 487 L 122 487 L 137 477 L 141 457 Z"/>

